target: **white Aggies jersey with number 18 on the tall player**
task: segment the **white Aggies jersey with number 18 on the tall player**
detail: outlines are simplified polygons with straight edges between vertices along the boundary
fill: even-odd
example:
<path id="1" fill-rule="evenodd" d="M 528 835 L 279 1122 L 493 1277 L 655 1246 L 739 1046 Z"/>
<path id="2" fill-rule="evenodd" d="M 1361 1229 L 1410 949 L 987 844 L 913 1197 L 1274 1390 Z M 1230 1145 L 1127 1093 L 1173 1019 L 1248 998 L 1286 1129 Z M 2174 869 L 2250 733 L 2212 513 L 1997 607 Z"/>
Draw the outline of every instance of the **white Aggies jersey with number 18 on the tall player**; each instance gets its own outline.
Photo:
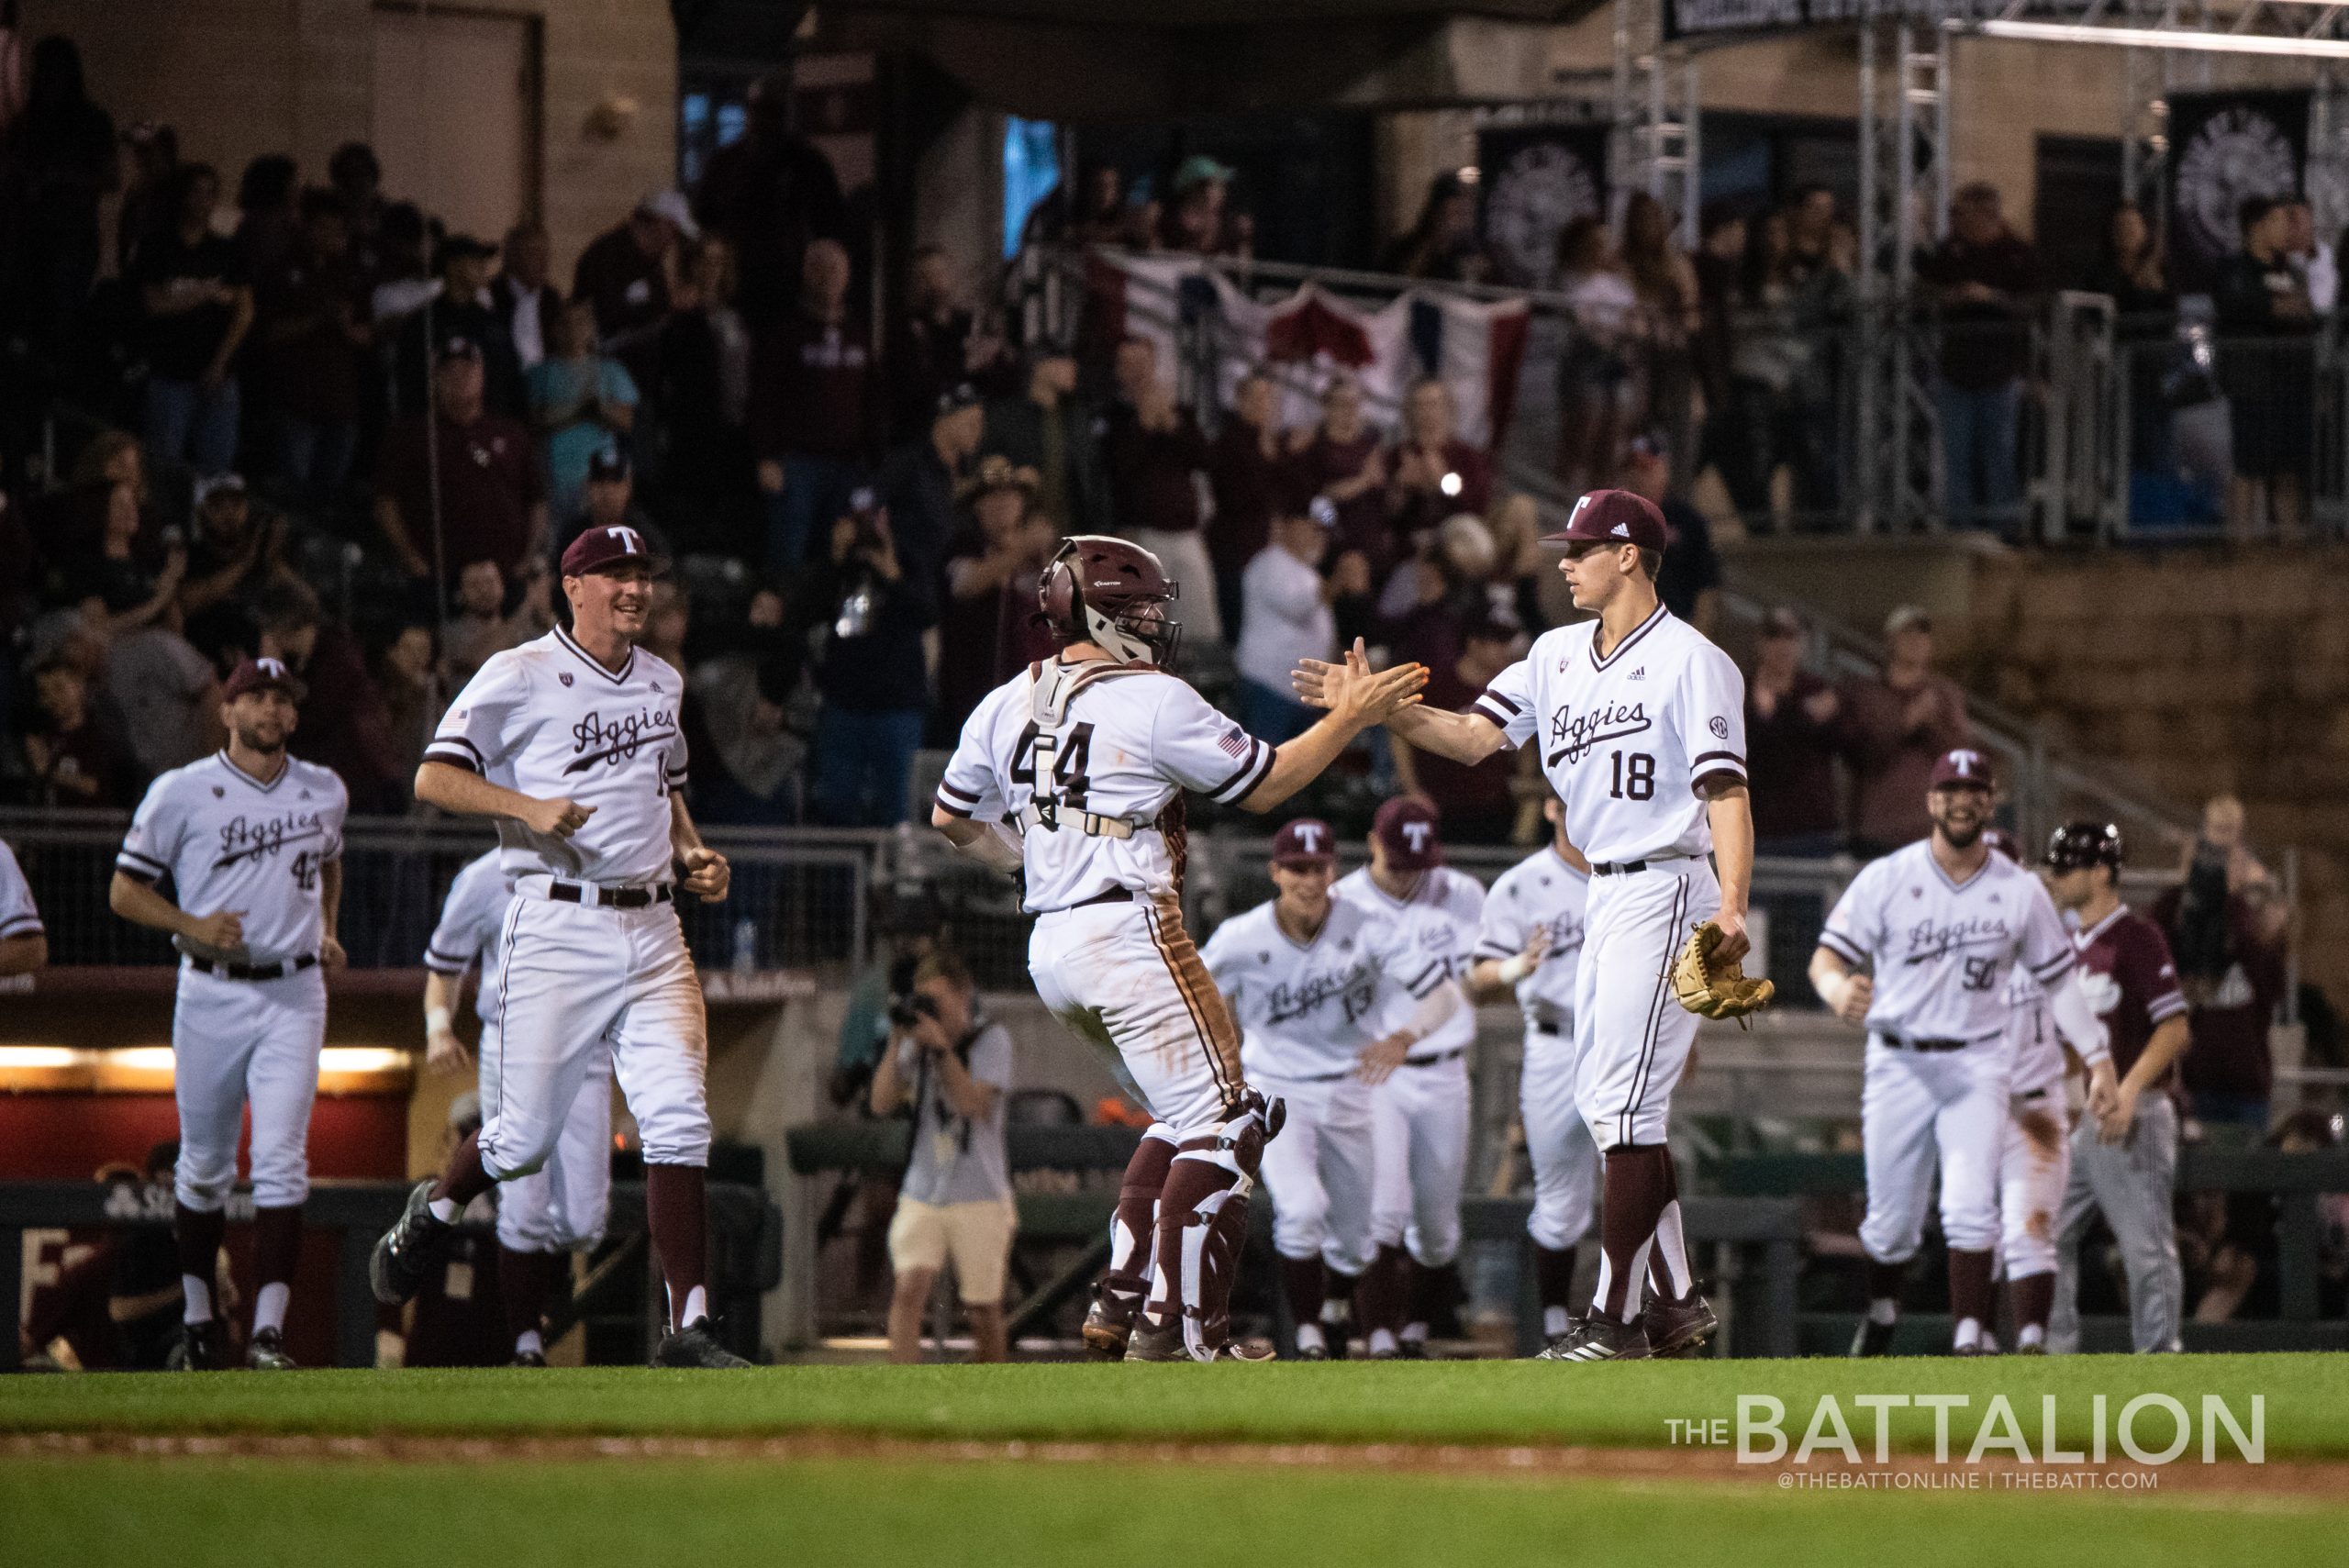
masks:
<path id="1" fill-rule="evenodd" d="M 1600 622 L 1557 627 L 1494 676 L 1470 711 L 1532 739 L 1593 864 L 1708 854 L 1696 782 L 1745 782 L 1745 678 L 1663 606 L 1600 657 Z"/>

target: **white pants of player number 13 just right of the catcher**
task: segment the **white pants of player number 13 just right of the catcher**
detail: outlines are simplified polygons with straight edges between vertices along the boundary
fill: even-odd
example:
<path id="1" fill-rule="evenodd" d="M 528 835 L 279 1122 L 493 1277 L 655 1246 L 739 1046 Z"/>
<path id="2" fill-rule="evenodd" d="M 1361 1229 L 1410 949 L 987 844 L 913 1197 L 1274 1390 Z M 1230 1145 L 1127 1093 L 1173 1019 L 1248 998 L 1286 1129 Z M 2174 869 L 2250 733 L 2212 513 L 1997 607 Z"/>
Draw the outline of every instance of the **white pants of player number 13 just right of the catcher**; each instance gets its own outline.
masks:
<path id="1" fill-rule="evenodd" d="M 1377 1249 L 1369 1197 L 1377 1181 L 1369 1084 L 1341 1077 L 1257 1077 L 1266 1099 L 1283 1099 L 1290 1120 L 1264 1145 L 1264 1190 L 1273 1195 L 1273 1251 L 1360 1275 Z"/>

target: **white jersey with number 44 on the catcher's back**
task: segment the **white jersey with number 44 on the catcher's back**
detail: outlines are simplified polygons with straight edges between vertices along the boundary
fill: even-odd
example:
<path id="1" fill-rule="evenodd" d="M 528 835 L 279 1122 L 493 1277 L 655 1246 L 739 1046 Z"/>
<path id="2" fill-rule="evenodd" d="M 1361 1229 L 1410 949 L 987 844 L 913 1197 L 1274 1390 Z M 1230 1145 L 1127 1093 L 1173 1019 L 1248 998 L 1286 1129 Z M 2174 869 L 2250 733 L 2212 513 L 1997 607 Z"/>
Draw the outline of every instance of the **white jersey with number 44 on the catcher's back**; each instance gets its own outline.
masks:
<path id="1" fill-rule="evenodd" d="M 1064 678 L 1059 718 L 1038 702 Z M 1174 845 L 1160 812 L 1184 789 L 1243 800 L 1273 770 L 1254 739 L 1189 683 L 1144 664 L 1031 664 L 963 723 L 937 807 L 1022 826 L 1027 908 L 1045 913 L 1116 887 L 1174 892 Z M 1092 819 L 1088 831 L 1088 817 Z M 1123 833 L 1123 836 L 1120 836 Z"/>

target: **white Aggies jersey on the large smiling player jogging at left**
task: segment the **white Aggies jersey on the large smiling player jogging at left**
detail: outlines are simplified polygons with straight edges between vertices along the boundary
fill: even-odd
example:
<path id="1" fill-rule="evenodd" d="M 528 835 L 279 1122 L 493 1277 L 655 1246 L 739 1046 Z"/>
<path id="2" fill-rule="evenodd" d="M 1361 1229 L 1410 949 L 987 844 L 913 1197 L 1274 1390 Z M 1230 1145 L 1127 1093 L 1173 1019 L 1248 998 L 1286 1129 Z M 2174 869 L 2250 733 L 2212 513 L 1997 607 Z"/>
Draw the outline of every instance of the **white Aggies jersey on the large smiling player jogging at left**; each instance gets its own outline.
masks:
<path id="1" fill-rule="evenodd" d="M 474 671 L 425 761 L 538 800 L 594 807 L 571 838 L 500 817 L 507 876 L 665 883 L 674 861 L 669 796 L 686 782 L 686 737 L 677 728 L 684 695 L 684 676 L 644 648 L 611 671 L 557 627 Z"/>

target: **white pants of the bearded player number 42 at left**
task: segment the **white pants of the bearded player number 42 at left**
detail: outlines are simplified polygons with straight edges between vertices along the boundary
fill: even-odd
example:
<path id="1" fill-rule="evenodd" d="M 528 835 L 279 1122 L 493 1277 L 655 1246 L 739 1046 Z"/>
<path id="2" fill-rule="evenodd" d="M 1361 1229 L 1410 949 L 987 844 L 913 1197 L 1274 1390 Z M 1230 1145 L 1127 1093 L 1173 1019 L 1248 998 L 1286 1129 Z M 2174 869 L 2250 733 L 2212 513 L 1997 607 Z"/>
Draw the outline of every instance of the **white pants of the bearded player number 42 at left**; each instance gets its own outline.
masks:
<path id="1" fill-rule="evenodd" d="M 202 1214 L 237 1185 L 237 1136 L 254 1108 L 254 1204 L 291 1209 L 310 1197 L 310 1103 L 327 1040 L 327 976 L 317 967 L 272 981 L 179 969 L 171 1007 L 171 1099 L 179 1169 L 171 1188 Z"/>

